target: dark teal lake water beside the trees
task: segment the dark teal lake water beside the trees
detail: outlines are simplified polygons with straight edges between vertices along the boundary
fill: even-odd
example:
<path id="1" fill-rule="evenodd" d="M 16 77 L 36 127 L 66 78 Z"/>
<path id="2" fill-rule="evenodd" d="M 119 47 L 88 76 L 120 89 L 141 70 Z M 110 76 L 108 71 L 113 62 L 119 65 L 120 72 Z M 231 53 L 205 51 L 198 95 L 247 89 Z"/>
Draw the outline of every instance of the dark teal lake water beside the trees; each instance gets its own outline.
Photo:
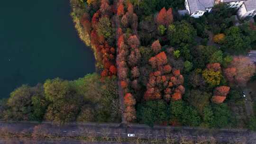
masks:
<path id="1" fill-rule="evenodd" d="M 77 36 L 69 0 L 2 0 L 0 98 L 21 84 L 95 72 L 94 57 Z"/>

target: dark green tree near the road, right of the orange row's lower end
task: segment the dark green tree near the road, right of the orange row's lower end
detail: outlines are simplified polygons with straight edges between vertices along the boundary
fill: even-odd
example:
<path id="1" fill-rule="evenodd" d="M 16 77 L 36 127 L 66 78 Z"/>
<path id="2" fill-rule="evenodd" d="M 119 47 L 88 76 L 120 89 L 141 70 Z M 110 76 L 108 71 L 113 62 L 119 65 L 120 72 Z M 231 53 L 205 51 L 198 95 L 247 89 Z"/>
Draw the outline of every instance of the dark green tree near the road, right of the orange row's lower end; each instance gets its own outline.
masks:
<path id="1" fill-rule="evenodd" d="M 164 100 L 146 101 L 137 107 L 137 119 L 148 126 L 168 120 L 168 108 Z"/>

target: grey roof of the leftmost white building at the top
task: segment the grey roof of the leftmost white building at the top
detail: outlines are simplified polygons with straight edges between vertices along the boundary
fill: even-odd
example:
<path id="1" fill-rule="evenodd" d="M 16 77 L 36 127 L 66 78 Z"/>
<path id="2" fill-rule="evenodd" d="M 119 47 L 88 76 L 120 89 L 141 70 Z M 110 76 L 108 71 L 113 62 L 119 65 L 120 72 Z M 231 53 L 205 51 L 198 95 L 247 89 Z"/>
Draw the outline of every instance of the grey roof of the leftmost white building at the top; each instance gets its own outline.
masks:
<path id="1" fill-rule="evenodd" d="M 205 8 L 213 7 L 214 0 L 188 0 L 190 13 L 194 13 L 197 10 L 206 11 Z"/>

